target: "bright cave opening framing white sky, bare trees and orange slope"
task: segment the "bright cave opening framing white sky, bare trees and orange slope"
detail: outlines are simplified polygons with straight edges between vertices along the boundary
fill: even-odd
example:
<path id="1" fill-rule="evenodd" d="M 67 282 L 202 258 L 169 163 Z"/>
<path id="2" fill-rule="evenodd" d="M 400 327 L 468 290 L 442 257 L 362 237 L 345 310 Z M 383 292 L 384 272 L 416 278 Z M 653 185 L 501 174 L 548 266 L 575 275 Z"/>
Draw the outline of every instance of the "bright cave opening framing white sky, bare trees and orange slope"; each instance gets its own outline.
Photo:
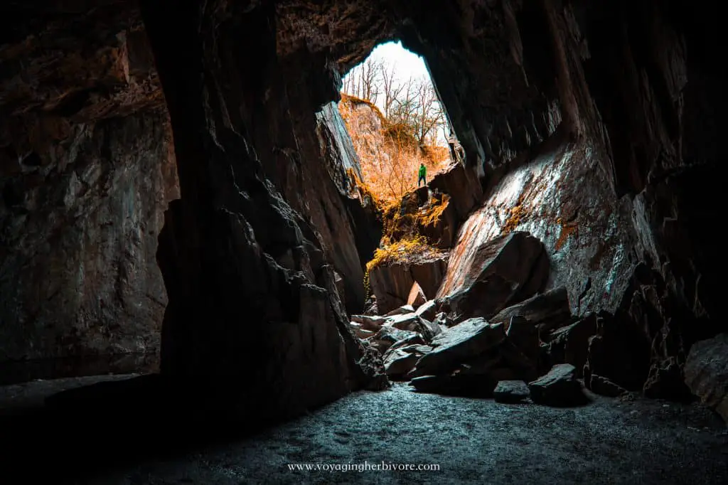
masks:
<path id="1" fill-rule="evenodd" d="M 344 76 L 339 112 L 368 189 L 399 202 L 462 158 L 424 59 L 399 41 L 375 47 Z M 420 170 L 424 165 L 424 170 Z"/>

